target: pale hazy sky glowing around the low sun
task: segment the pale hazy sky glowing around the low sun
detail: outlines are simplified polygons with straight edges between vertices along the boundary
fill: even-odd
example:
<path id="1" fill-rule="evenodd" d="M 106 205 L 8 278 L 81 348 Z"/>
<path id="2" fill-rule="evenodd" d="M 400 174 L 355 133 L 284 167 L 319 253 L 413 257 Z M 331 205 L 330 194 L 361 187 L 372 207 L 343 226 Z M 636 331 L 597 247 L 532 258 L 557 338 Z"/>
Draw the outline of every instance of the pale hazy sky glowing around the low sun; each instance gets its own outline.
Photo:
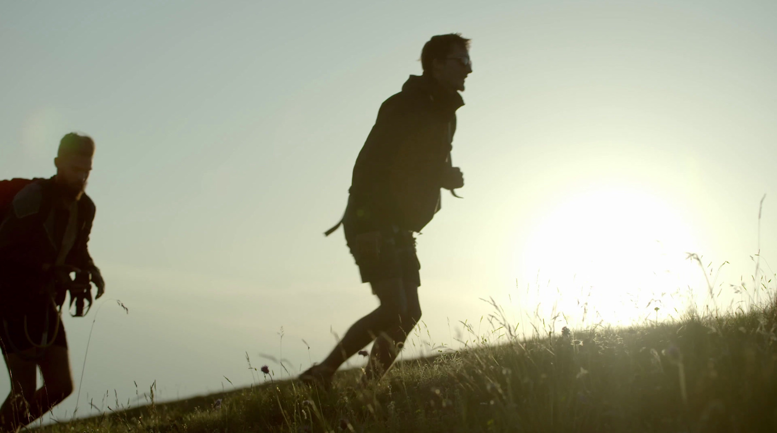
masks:
<path id="1" fill-rule="evenodd" d="M 710 273 L 720 306 L 763 296 L 775 19 L 770 1 L 3 2 L 0 178 L 53 175 L 64 133 L 97 146 L 106 300 L 65 318 L 80 392 L 53 416 L 137 404 L 135 383 L 262 382 L 246 356 L 294 375 L 377 306 L 342 231 L 322 232 L 434 34 L 472 39 L 464 199 L 443 194 L 418 235 L 406 356 L 459 347 L 460 321 L 491 329 L 491 298 L 531 333 L 679 317 Z"/>

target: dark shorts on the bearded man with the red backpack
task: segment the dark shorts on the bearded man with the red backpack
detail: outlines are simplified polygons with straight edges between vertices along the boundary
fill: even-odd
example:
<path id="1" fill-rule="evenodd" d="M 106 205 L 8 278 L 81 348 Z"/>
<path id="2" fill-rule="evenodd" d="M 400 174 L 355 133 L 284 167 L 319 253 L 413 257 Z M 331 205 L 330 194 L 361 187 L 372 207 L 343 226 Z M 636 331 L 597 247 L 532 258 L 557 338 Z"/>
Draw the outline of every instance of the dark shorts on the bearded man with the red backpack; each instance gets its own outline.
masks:
<path id="1" fill-rule="evenodd" d="M 25 329 L 26 327 L 26 329 Z M 3 355 L 36 346 L 68 348 L 64 325 L 54 307 L 0 317 L 0 349 Z"/>

